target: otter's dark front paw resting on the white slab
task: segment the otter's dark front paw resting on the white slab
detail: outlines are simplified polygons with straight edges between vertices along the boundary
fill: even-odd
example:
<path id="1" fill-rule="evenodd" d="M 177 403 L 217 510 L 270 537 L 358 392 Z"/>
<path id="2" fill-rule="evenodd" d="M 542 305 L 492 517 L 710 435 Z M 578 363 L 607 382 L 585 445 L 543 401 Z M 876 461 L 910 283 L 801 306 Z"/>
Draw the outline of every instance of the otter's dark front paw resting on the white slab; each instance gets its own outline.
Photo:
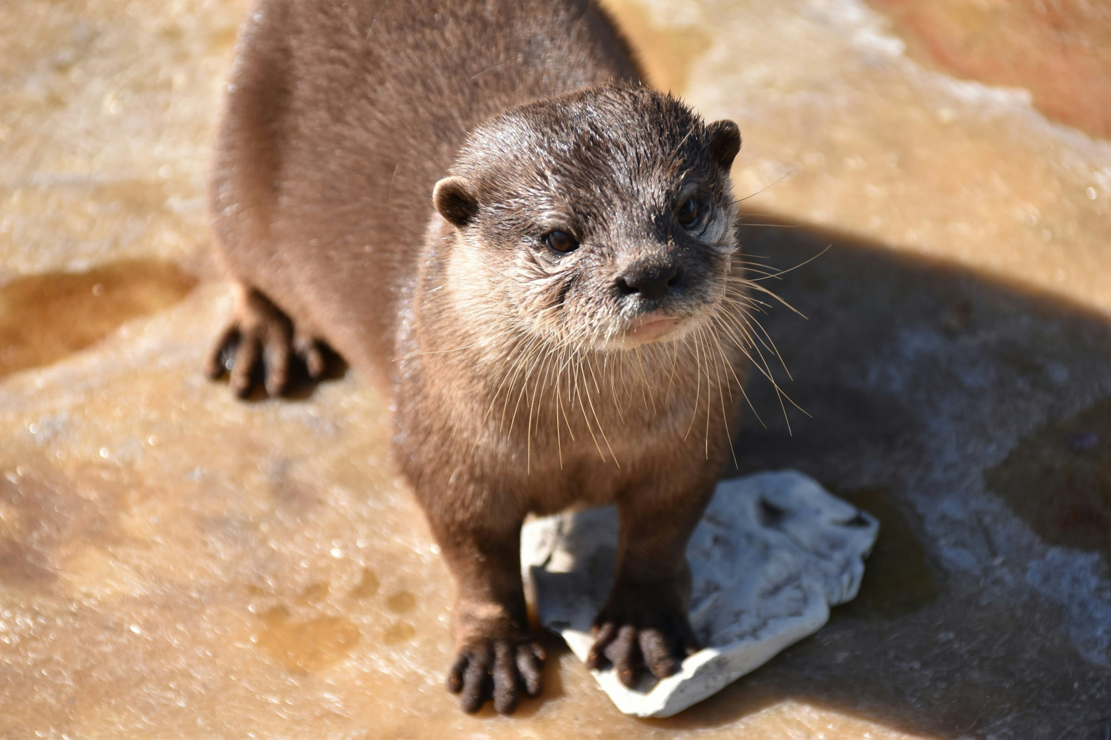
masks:
<path id="1" fill-rule="evenodd" d="M 645 670 L 658 679 L 679 672 L 683 658 L 698 650 L 681 600 L 649 594 L 612 596 L 594 619 L 594 636 L 587 666 L 612 666 L 630 689 Z"/>

